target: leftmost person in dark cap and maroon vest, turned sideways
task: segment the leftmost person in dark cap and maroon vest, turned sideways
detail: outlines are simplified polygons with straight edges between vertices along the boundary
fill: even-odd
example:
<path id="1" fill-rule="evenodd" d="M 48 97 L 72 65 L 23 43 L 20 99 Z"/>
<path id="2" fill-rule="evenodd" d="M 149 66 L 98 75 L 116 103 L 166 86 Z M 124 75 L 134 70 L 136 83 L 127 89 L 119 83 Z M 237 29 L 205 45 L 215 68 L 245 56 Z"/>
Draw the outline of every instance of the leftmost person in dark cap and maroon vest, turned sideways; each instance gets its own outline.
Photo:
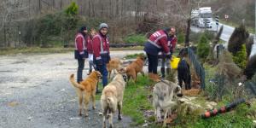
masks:
<path id="1" fill-rule="evenodd" d="M 79 29 L 79 32 L 76 34 L 75 37 L 75 50 L 74 50 L 74 57 L 78 60 L 79 67 L 78 67 L 78 74 L 77 74 L 77 82 L 80 83 L 83 81 L 83 70 L 84 70 L 84 60 L 88 58 L 87 52 L 87 43 L 86 43 L 86 35 L 87 35 L 87 28 L 86 26 L 82 26 Z"/>

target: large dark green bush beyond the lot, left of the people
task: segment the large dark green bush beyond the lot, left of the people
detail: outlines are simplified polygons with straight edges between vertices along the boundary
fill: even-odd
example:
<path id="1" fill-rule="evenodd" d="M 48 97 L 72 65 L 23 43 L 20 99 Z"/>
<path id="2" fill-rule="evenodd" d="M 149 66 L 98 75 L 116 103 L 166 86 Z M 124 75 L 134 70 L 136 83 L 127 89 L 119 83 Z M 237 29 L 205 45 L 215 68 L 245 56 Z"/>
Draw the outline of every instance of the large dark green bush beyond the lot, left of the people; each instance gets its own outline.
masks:
<path id="1" fill-rule="evenodd" d="M 22 40 L 29 45 L 52 47 L 68 43 L 78 28 L 78 5 L 71 3 L 67 9 L 38 19 L 28 20 L 22 26 Z"/>

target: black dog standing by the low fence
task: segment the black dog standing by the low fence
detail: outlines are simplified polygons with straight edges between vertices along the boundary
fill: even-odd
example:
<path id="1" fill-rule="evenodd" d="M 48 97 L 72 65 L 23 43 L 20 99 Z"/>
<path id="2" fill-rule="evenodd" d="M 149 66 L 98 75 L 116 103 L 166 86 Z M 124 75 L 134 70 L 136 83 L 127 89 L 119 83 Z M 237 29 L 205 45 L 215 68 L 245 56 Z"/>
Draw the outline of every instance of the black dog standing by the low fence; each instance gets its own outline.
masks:
<path id="1" fill-rule="evenodd" d="M 191 89 L 191 75 L 189 70 L 189 64 L 184 59 L 181 59 L 177 65 L 177 79 L 180 87 L 185 83 L 185 89 Z"/>

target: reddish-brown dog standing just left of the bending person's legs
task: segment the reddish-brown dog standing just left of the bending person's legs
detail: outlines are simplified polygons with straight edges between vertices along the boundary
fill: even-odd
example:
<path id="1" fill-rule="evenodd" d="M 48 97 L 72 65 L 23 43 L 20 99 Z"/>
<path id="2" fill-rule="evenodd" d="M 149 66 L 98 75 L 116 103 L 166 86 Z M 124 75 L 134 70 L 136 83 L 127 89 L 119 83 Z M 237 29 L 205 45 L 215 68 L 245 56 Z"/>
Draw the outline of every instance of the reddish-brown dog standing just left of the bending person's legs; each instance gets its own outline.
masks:
<path id="1" fill-rule="evenodd" d="M 127 74 L 128 81 L 132 78 L 133 81 L 136 82 L 137 73 L 142 73 L 144 76 L 143 65 L 145 60 L 146 57 L 144 55 L 139 55 L 137 56 L 136 61 L 132 61 L 131 64 L 129 64 L 125 68 L 125 73 Z"/>

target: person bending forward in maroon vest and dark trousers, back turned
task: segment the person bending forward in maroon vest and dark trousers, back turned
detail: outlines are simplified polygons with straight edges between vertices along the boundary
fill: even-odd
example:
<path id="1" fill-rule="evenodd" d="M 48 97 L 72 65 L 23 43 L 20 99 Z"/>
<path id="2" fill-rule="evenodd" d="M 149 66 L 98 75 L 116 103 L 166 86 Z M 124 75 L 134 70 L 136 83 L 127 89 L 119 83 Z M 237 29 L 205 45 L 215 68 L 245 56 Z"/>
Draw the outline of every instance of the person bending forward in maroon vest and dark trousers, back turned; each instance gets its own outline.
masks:
<path id="1" fill-rule="evenodd" d="M 160 79 L 157 74 L 159 52 L 164 52 L 168 59 L 171 59 L 172 57 L 167 44 L 167 37 L 170 32 L 171 27 L 154 32 L 150 35 L 148 41 L 144 45 L 144 51 L 148 56 L 148 76 L 149 79 L 153 79 L 154 81 Z"/>

